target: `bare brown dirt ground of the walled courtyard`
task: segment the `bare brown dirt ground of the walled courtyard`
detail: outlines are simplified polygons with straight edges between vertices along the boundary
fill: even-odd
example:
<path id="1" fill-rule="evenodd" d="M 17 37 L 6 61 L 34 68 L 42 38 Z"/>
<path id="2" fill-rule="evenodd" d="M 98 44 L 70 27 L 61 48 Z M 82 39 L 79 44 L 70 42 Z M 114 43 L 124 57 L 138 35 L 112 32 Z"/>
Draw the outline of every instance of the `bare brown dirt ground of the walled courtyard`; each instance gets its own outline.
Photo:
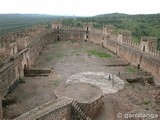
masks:
<path id="1" fill-rule="evenodd" d="M 91 51 L 105 52 L 111 57 L 98 57 L 91 54 Z M 59 41 L 50 44 L 43 49 L 32 69 L 51 69 L 53 74 L 48 77 L 24 77 L 25 83 L 20 84 L 6 97 L 10 102 L 3 108 L 4 118 L 13 119 L 41 104 L 55 100 L 55 89 L 64 85 L 67 78 L 74 74 L 88 71 L 118 74 L 129 71 L 129 66 L 108 66 L 117 62 L 125 63 L 107 49 L 93 43 Z M 132 83 L 126 84 L 125 88 L 117 93 L 105 95 L 104 108 L 95 120 L 124 120 L 131 113 L 159 115 L 153 120 L 160 120 L 160 105 L 155 103 L 150 95 L 153 89 L 157 88 Z"/>

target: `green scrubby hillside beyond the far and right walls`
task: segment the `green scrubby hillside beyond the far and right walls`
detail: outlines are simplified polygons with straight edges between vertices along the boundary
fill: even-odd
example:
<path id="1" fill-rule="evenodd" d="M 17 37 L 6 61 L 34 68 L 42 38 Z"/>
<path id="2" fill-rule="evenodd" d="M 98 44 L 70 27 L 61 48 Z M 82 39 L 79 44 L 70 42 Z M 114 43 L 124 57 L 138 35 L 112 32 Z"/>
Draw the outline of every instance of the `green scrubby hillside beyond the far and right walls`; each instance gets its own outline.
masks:
<path id="1" fill-rule="evenodd" d="M 92 22 L 93 27 L 102 28 L 103 25 L 115 26 L 114 34 L 120 30 L 132 32 L 132 40 L 140 42 L 141 36 L 158 37 L 158 49 L 160 50 L 160 14 L 127 15 L 120 13 L 103 14 L 94 17 L 79 17 L 76 19 L 63 19 L 65 25 L 82 26 L 84 22 Z"/>

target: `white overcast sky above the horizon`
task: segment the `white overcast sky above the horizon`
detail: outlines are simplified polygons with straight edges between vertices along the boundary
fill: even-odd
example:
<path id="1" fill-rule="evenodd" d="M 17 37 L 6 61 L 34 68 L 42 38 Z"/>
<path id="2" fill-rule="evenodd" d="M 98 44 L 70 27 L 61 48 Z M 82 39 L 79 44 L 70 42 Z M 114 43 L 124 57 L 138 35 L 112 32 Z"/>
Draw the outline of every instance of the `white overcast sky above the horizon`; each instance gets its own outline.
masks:
<path id="1" fill-rule="evenodd" d="M 0 13 L 93 16 L 105 13 L 152 14 L 159 0 L 0 0 Z"/>

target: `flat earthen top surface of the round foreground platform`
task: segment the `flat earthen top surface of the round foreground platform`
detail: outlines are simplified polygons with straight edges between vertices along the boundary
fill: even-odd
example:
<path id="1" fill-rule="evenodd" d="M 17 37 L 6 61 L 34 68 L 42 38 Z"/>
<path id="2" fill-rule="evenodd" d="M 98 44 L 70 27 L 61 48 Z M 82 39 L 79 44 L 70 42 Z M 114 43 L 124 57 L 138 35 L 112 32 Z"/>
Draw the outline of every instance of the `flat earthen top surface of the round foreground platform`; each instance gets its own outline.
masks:
<path id="1" fill-rule="evenodd" d="M 56 96 L 73 98 L 81 103 L 92 102 L 103 95 L 102 90 L 89 83 L 71 83 L 56 89 Z"/>

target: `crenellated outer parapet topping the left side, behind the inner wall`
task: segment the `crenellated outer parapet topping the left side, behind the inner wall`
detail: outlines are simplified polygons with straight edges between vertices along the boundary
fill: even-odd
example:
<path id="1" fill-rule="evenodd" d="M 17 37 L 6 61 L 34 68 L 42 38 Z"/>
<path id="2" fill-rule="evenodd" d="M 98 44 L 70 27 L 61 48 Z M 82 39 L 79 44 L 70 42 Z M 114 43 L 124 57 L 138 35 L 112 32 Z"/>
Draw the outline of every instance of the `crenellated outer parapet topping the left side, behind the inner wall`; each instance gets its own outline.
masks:
<path id="1" fill-rule="evenodd" d="M 34 40 L 34 37 L 45 32 L 47 25 L 35 25 L 16 32 L 6 33 L 0 36 L 0 56 L 12 56 L 17 54 Z"/>

